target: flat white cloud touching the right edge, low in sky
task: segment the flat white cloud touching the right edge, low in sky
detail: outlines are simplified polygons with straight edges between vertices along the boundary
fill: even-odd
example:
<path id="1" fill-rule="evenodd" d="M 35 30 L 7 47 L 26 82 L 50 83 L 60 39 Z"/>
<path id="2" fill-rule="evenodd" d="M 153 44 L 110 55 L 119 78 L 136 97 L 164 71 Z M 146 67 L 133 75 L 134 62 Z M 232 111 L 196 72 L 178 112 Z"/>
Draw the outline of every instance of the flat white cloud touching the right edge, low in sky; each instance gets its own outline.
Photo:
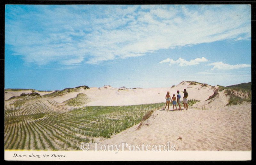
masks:
<path id="1" fill-rule="evenodd" d="M 240 68 L 248 68 L 251 67 L 250 64 L 236 64 L 236 65 L 229 65 L 222 62 L 216 62 L 208 64 L 209 66 L 213 66 L 211 70 L 233 70 L 233 69 L 240 69 Z"/>

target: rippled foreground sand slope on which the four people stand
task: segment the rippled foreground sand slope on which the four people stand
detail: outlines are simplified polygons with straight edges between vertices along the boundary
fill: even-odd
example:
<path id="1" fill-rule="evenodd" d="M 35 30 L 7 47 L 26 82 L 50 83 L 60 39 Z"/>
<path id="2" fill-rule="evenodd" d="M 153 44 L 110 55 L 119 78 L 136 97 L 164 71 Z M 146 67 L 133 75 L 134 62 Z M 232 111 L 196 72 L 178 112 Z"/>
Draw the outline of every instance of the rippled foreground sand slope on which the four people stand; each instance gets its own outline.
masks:
<path id="1" fill-rule="evenodd" d="M 170 142 L 176 150 L 251 150 L 251 104 L 248 103 L 215 110 L 156 110 L 136 130 L 138 125 L 98 142 L 101 145 Z M 94 150 L 94 146 L 90 149 Z"/>

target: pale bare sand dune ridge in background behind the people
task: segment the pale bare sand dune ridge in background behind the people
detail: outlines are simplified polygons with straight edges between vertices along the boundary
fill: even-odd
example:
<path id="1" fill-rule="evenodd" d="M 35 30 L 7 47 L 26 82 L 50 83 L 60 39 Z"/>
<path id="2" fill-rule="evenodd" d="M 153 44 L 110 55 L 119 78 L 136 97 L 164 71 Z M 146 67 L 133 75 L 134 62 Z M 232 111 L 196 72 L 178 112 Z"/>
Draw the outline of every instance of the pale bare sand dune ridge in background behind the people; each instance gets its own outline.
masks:
<path id="1" fill-rule="evenodd" d="M 77 94 L 86 94 L 90 99 L 89 103 L 85 105 L 88 106 L 119 106 L 119 105 L 137 105 L 137 104 L 148 104 L 148 103 L 158 103 L 165 102 L 165 95 L 167 91 L 170 94 L 175 94 L 177 96 L 177 90 L 180 90 L 180 94 L 183 97 L 183 89 L 186 88 L 188 92 L 188 99 L 196 99 L 204 101 L 209 98 L 214 92 L 214 87 L 212 86 L 201 86 L 189 85 L 188 82 L 183 82 L 175 87 L 164 87 L 164 88 L 137 88 L 137 89 L 125 89 L 120 90 L 119 88 L 113 88 L 111 86 L 103 87 L 91 87 L 90 89 L 84 90 L 80 89 L 78 92 L 70 92 L 62 96 L 57 96 L 52 98 L 54 101 L 59 103 L 66 101 L 70 98 L 76 97 Z M 20 92 L 8 92 L 5 94 L 5 100 L 12 96 L 19 96 L 21 93 L 31 93 L 31 91 L 20 91 Z M 47 92 L 37 92 L 40 95 L 49 94 Z M 84 106 L 85 106 L 84 105 Z"/>

